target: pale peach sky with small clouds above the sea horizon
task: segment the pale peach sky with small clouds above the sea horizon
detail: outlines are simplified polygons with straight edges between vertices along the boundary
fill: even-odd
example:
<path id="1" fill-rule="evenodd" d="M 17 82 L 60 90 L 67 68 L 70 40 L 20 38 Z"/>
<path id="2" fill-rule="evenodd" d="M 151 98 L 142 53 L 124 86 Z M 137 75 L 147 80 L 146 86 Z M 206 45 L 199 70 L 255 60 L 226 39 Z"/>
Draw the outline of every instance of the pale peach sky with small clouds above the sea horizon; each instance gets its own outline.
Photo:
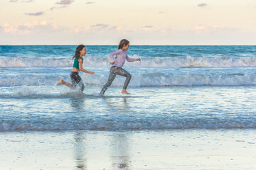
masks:
<path id="1" fill-rule="evenodd" d="M 256 0 L 1 0 L 0 45 L 256 45 Z"/>

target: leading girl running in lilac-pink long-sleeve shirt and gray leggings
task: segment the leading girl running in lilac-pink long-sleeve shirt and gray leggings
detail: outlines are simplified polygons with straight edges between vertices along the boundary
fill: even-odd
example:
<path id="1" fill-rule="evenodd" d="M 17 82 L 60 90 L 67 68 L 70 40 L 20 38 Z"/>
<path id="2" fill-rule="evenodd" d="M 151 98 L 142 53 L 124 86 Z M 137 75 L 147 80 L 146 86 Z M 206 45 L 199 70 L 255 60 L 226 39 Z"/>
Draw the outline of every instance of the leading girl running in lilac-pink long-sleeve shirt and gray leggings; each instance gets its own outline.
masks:
<path id="1" fill-rule="evenodd" d="M 102 91 L 100 91 L 100 96 L 103 96 L 105 91 L 107 91 L 107 88 L 112 84 L 117 74 L 123 77 L 126 77 L 126 80 L 124 82 L 124 86 L 122 89 L 122 94 L 129 94 L 126 91 L 126 89 L 129 84 L 129 81 L 132 78 L 132 75 L 129 74 L 129 72 L 127 72 L 125 69 L 122 69 L 122 67 L 124 66 L 125 60 L 127 60 L 128 62 L 135 62 L 135 61 L 140 61 L 141 59 L 129 58 L 126 52 L 128 49 L 129 49 L 129 41 L 123 39 L 119 42 L 118 50 L 110 53 L 110 60 L 111 60 L 110 64 L 113 64 L 113 65 L 110 69 L 110 76 L 107 80 L 107 83 L 105 84 L 105 86 L 103 86 Z M 114 55 L 116 55 L 115 59 L 113 57 Z"/>

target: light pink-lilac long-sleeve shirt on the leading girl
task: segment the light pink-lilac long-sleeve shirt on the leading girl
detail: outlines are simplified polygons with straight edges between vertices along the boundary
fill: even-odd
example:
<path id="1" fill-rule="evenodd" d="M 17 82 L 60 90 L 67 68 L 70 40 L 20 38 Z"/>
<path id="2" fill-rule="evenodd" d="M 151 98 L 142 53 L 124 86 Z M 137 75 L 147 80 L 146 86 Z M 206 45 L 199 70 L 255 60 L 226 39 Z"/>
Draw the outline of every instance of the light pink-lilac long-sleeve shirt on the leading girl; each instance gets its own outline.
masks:
<path id="1" fill-rule="evenodd" d="M 115 58 L 114 60 L 114 55 L 116 55 L 117 57 Z M 110 53 L 110 60 L 111 62 L 114 62 L 115 63 L 113 64 L 113 66 L 117 66 L 117 67 L 123 67 L 124 66 L 124 62 L 125 62 L 125 59 L 128 61 L 128 62 L 135 62 L 137 59 L 135 58 L 129 58 L 128 55 L 127 55 L 127 52 L 126 51 L 123 51 L 122 49 L 118 49 L 116 50 L 115 52 L 111 52 Z"/>

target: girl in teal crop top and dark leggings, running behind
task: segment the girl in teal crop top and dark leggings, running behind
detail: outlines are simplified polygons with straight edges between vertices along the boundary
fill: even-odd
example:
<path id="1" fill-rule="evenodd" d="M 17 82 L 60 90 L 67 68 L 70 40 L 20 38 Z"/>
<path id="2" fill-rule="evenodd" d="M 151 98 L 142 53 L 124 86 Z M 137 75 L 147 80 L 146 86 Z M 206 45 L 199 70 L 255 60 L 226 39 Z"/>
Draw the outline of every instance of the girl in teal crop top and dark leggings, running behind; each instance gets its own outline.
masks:
<path id="1" fill-rule="evenodd" d="M 86 47 L 85 45 L 78 45 L 78 47 L 75 49 L 75 55 L 73 56 L 74 64 L 73 64 L 73 69 L 72 72 L 70 73 L 71 77 L 71 84 L 68 82 L 64 81 L 63 79 L 60 79 L 60 81 L 57 82 L 56 86 L 60 84 L 65 84 L 66 86 L 74 89 L 77 88 L 79 89 L 80 92 L 82 92 L 85 89 L 85 85 L 82 82 L 81 77 L 78 75 L 79 71 L 85 72 L 87 74 L 94 75 L 95 72 L 89 72 L 85 69 L 82 68 L 82 63 L 83 63 L 83 58 L 82 56 L 85 56 L 86 54 Z"/>

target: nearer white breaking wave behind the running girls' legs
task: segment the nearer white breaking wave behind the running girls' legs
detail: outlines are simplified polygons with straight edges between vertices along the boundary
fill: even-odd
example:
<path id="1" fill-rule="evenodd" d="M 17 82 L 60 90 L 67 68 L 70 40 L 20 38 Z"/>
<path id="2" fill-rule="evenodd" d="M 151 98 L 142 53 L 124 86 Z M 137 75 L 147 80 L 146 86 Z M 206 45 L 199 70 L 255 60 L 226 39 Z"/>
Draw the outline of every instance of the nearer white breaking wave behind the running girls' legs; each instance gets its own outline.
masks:
<path id="1" fill-rule="evenodd" d="M 107 82 L 109 72 L 95 74 L 94 77 L 88 74 L 80 74 L 83 82 L 87 86 L 103 86 Z M 61 77 L 70 82 L 69 75 Z M 58 77 L 31 77 L 31 75 L 20 75 L 18 77 L 1 78 L 0 86 L 54 86 Z M 114 79 L 112 86 L 123 86 L 124 77 Z M 256 74 L 254 72 L 243 74 L 226 74 L 226 73 L 134 73 L 129 86 L 244 86 L 256 85 Z"/>

